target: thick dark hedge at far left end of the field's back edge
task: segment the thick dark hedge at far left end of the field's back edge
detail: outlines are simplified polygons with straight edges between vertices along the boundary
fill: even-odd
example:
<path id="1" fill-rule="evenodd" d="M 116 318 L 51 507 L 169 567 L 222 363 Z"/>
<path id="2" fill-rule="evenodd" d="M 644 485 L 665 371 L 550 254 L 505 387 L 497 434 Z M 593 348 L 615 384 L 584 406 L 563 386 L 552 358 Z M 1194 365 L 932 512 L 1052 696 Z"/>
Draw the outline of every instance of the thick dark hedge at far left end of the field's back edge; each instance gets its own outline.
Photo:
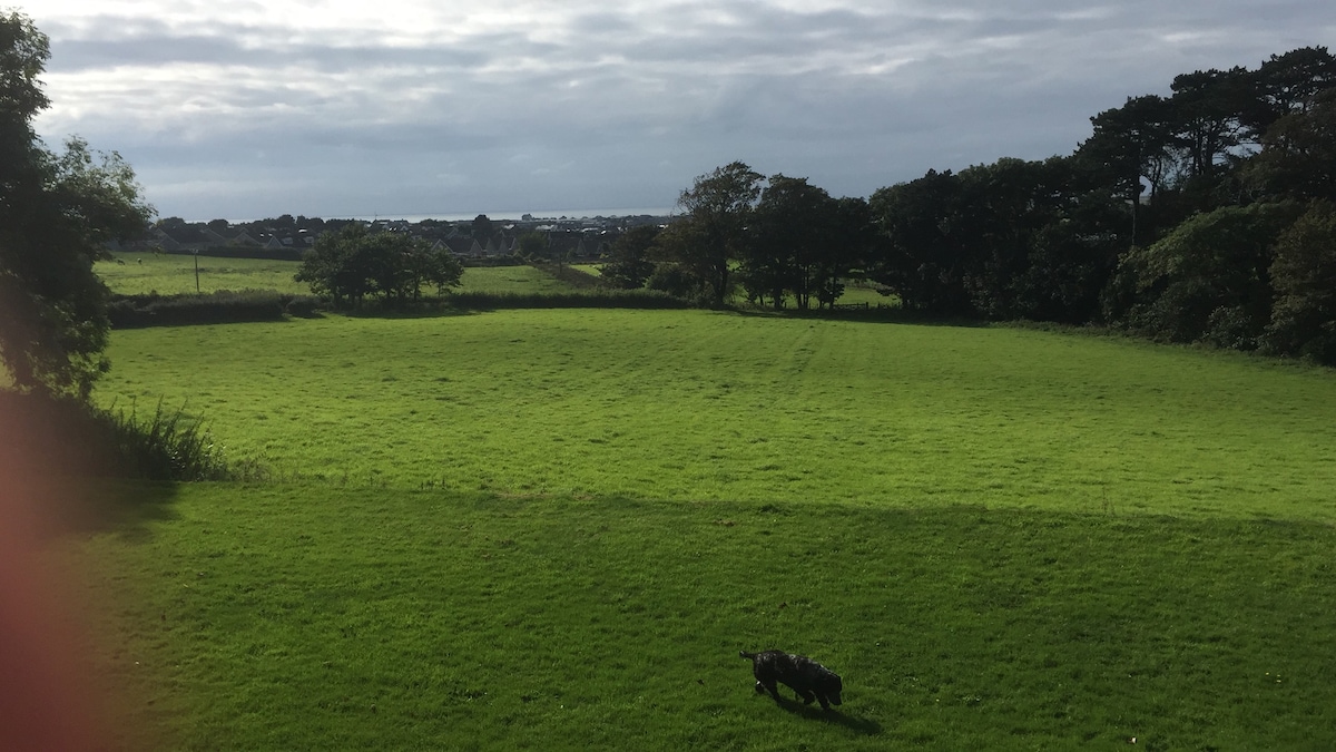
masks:
<path id="1" fill-rule="evenodd" d="M 180 324 L 239 324 L 282 321 L 283 314 L 309 317 L 317 301 L 273 290 L 219 290 L 207 294 L 122 296 L 108 305 L 111 325 L 118 329 L 174 326 Z"/>

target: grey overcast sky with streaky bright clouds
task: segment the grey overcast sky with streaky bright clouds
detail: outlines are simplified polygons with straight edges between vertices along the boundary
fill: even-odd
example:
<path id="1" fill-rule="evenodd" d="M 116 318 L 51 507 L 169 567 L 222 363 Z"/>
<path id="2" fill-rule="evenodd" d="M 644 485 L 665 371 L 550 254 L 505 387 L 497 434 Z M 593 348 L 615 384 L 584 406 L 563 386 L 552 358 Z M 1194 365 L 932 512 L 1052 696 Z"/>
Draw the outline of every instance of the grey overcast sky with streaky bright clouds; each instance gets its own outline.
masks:
<path id="1" fill-rule="evenodd" d="M 20 3 L 23 0 L 19 0 Z M 1173 76 L 1336 47 L 1331 0 L 28 0 L 51 146 L 163 217 L 669 207 L 735 159 L 867 197 L 1069 154 Z"/>

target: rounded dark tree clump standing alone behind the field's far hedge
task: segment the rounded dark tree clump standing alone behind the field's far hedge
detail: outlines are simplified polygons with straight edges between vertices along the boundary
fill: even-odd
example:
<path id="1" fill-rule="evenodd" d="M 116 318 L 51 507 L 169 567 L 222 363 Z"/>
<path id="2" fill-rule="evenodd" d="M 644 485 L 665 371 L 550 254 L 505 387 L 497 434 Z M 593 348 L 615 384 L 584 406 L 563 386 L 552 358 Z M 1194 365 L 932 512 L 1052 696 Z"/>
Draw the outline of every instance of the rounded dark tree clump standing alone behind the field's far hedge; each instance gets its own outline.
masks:
<path id="1" fill-rule="evenodd" d="M 437 293 L 458 286 L 462 273 L 448 248 L 350 223 L 318 237 L 294 278 L 335 306 L 357 306 L 367 297 L 397 306 L 420 300 L 422 285 L 436 286 Z"/>

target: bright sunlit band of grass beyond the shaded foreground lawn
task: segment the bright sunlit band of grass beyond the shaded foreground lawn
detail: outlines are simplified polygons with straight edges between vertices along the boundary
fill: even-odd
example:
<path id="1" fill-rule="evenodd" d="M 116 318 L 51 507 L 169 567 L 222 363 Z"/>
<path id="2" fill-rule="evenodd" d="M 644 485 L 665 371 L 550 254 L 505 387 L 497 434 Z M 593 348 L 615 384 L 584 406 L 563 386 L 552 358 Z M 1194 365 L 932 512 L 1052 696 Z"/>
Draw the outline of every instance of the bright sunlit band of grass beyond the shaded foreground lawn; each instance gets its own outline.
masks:
<path id="1" fill-rule="evenodd" d="M 502 494 L 1336 519 L 1325 371 L 1122 340 L 705 312 L 120 332 L 281 476 Z"/>

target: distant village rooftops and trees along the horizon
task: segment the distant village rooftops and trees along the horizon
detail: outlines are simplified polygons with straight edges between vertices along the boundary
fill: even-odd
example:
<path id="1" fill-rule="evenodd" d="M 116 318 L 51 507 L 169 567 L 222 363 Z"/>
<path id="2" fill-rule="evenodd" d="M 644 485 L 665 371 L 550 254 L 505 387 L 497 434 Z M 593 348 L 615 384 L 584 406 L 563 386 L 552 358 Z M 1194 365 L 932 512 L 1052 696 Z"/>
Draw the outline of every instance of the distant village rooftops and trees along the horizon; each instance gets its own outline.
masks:
<path id="1" fill-rule="evenodd" d="M 604 256 L 623 233 L 641 225 L 667 225 L 671 217 L 648 214 L 627 217 L 536 218 L 525 214 L 521 219 L 489 219 L 480 214 L 472 221 L 446 219 L 321 219 L 319 217 L 293 217 L 254 222 L 187 222 L 168 217 L 154 223 L 134 241 L 118 244 L 112 250 L 150 253 L 192 253 L 200 256 L 301 260 L 302 252 L 315 245 L 322 233 L 359 222 L 369 227 L 405 233 L 422 238 L 436 249 L 448 248 L 465 262 L 504 262 L 514 258 L 520 238 L 541 236 L 545 254 L 569 260 L 593 260 Z"/>

